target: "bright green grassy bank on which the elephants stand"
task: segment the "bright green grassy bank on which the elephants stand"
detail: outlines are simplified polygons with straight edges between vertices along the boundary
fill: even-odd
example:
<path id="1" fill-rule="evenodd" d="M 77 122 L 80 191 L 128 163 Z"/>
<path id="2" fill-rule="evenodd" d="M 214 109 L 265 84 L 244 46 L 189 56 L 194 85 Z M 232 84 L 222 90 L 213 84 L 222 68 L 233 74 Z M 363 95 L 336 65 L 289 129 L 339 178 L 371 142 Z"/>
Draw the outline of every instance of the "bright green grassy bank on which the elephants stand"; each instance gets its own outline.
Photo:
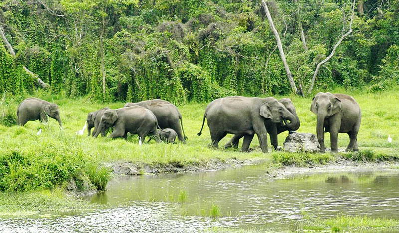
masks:
<path id="1" fill-rule="evenodd" d="M 337 90 L 343 92 L 343 90 Z M 209 130 L 205 124 L 203 134 L 198 137 L 206 103 L 188 103 L 178 106 L 183 116 L 183 125 L 189 137 L 187 144 L 149 144 L 139 146 L 137 135 L 127 140 L 111 140 L 107 137 L 92 138 L 77 136 L 86 120 L 87 113 L 104 106 L 120 108 L 124 103 L 97 103 L 90 97 L 69 99 L 62 96 L 37 93 L 35 96 L 55 102 L 61 109 L 63 128 L 55 120 L 47 124 L 30 121 L 24 127 L 16 126 L 16 108 L 26 98 L 4 95 L 0 100 L 0 190 L 29 191 L 53 189 L 61 186 L 72 190 L 103 190 L 111 177 L 112 168 L 105 167 L 115 161 L 126 161 L 147 167 L 165 167 L 173 165 L 207 167 L 214 161 L 228 160 L 267 160 L 271 166 L 296 165 L 309 166 L 325 164 L 338 157 L 356 161 L 390 161 L 399 157 L 399 132 L 397 130 L 399 115 L 397 103 L 399 91 L 369 94 L 362 92 L 349 93 L 360 104 L 362 125 L 358 135 L 361 152 L 358 154 L 341 153 L 339 155 L 285 153 L 261 153 L 257 137 L 251 144 L 255 150 L 241 153 L 234 149 L 212 149 Z M 290 97 L 294 102 L 301 120 L 298 132 L 315 133 L 316 116 L 309 111 L 312 98 Z M 389 101 L 388 101 L 389 100 Z M 36 136 L 39 129 L 42 133 Z M 281 146 L 287 132 L 279 135 Z M 387 141 L 390 135 L 392 143 Z M 220 142 L 224 145 L 231 135 Z M 346 147 L 348 136 L 339 135 L 339 147 Z M 329 147 L 329 136 L 326 136 L 326 147 Z M 271 148 L 269 142 L 269 148 Z M 162 169 L 161 169 L 162 171 Z"/>

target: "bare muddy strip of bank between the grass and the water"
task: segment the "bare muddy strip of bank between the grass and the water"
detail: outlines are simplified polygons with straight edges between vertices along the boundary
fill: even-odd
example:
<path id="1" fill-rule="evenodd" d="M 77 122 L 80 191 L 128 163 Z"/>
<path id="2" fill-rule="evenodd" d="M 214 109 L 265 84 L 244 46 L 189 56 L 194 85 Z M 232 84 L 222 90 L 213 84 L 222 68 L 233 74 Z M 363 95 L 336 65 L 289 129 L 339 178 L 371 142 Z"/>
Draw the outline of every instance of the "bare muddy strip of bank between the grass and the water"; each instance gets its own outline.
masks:
<path id="1" fill-rule="evenodd" d="M 292 153 L 290 153 L 292 154 Z M 300 153 L 293 153 L 300 154 Z M 265 170 L 266 176 L 272 179 L 284 179 L 289 176 L 312 174 L 322 172 L 362 172 L 362 171 L 381 171 L 381 170 L 399 170 L 399 159 L 397 156 L 385 155 L 379 159 L 373 160 L 354 160 L 354 153 L 326 152 L 325 159 L 313 158 L 319 153 L 305 153 L 306 158 L 295 158 L 291 164 L 284 165 L 276 161 L 275 156 L 266 158 L 237 159 L 235 157 L 228 159 L 214 158 L 200 162 L 170 162 L 170 163 L 145 163 L 132 162 L 127 160 L 117 160 L 104 163 L 103 165 L 111 170 L 113 176 L 141 176 L 156 175 L 165 173 L 185 173 L 185 172 L 215 172 L 227 168 L 240 168 L 243 166 L 267 164 Z M 281 155 L 277 152 L 274 155 Z M 319 154 L 323 155 L 323 154 Z M 111 178 L 112 180 L 112 178 Z M 98 192 L 95 189 L 77 191 L 68 189 L 67 193 L 74 196 L 92 195 Z"/>

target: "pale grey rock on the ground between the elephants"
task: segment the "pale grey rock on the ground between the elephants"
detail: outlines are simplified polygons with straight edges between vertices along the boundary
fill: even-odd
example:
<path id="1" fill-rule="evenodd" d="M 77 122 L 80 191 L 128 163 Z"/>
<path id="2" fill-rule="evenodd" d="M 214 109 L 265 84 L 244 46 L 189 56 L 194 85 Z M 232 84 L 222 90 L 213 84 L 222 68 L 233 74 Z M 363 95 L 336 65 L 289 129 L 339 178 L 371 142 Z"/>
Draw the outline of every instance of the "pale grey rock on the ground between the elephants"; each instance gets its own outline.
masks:
<path id="1" fill-rule="evenodd" d="M 284 151 L 288 152 L 317 152 L 319 150 L 317 136 L 312 133 L 289 134 L 284 142 Z"/>

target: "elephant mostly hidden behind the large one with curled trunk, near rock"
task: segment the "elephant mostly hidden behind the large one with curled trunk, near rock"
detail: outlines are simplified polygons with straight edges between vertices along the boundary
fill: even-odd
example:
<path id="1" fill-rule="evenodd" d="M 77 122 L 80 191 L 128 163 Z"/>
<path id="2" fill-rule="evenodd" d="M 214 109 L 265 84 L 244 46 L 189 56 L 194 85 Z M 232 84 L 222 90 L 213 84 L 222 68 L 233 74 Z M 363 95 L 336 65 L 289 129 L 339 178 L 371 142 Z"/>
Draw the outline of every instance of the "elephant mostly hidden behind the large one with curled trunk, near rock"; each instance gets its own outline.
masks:
<path id="1" fill-rule="evenodd" d="M 298 115 L 296 114 L 296 110 L 295 110 L 295 106 L 292 103 L 290 98 L 283 98 L 281 100 L 279 100 L 279 102 L 281 104 L 284 105 L 284 107 L 290 111 L 296 118 L 296 125 L 293 126 L 293 128 L 288 128 L 287 125 L 283 124 L 283 123 L 272 123 L 270 120 L 266 120 L 265 121 L 265 126 L 266 126 L 266 131 L 270 136 L 270 143 L 273 146 L 273 148 L 275 150 L 277 150 L 277 146 L 278 146 L 278 140 L 277 140 L 277 135 L 285 132 L 285 131 L 289 131 L 289 134 L 294 133 L 293 131 L 298 130 L 298 128 L 301 126 L 301 122 L 299 120 Z M 230 148 L 230 147 L 234 147 L 234 148 L 238 148 L 238 143 L 239 140 L 244 136 L 244 134 L 237 134 L 234 135 L 230 141 L 228 141 L 225 145 L 224 148 Z"/>

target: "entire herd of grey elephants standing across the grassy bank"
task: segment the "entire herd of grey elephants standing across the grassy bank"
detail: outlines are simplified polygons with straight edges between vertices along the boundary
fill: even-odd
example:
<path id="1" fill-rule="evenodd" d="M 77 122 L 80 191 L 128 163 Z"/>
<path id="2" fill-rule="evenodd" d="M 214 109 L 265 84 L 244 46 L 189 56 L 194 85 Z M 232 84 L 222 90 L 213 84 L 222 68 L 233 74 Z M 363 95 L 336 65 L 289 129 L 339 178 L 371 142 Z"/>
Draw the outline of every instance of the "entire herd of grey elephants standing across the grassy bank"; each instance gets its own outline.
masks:
<path id="1" fill-rule="evenodd" d="M 317 116 L 317 138 L 320 152 L 324 152 L 324 132 L 330 132 L 331 151 L 338 152 L 338 133 L 347 133 L 350 138 L 348 151 L 357 151 L 357 134 L 360 128 L 361 111 L 358 103 L 348 95 L 319 92 L 312 101 L 310 110 Z M 47 116 L 54 118 L 61 125 L 58 105 L 38 98 L 23 100 L 17 109 L 17 124 L 25 125 L 29 120 L 47 122 Z M 277 135 L 284 131 L 295 133 L 300 127 L 300 120 L 289 98 L 277 100 L 273 97 L 230 96 L 210 102 L 203 116 L 202 127 L 207 119 L 212 146 L 227 134 L 234 134 L 224 147 L 237 148 L 243 137 L 242 151 L 248 151 L 256 134 L 261 150 L 266 153 L 267 134 L 271 145 L 277 149 Z M 94 128 L 93 132 L 91 132 Z M 127 137 L 127 133 L 138 134 L 139 143 L 146 136 L 157 142 L 161 139 L 173 143 L 178 137 L 186 143 L 182 115 L 175 105 L 168 101 L 155 99 L 138 103 L 127 103 L 123 108 L 102 108 L 87 115 L 88 135 L 97 137 L 113 129 L 110 138 Z"/>

